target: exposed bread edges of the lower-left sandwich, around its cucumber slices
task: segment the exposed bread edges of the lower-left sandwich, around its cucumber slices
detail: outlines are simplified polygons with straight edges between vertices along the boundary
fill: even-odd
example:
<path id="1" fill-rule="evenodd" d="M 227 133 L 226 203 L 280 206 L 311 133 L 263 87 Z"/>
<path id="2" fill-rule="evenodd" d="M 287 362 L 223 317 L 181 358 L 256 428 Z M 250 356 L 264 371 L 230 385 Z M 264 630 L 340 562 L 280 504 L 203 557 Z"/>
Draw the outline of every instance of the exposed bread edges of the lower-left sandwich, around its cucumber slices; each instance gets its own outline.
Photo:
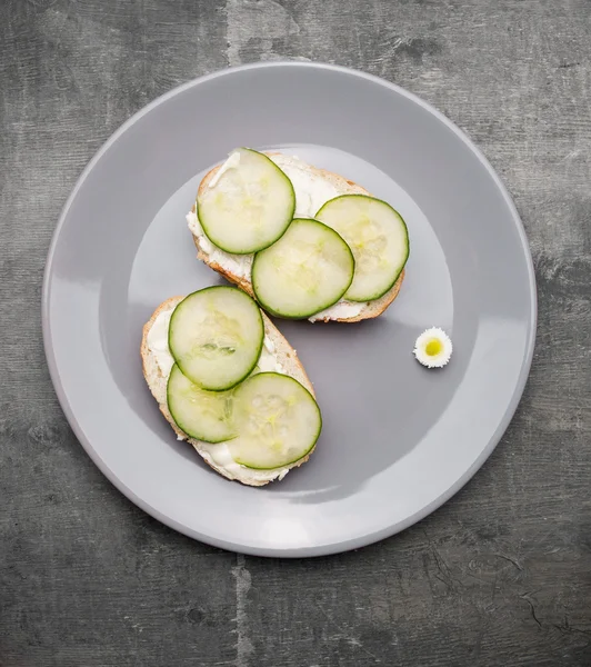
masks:
<path id="1" fill-rule="evenodd" d="M 158 407 L 160 408 L 160 411 L 177 434 L 177 438 L 179 440 L 187 440 L 190 445 L 192 445 L 197 449 L 199 455 L 203 458 L 203 460 L 223 477 L 227 477 L 228 479 L 236 479 L 248 486 L 263 486 L 266 484 L 269 484 L 270 481 L 273 481 L 274 479 L 282 479 L 291 468 L 297 468 L 304 464 L 310 458 L 310 455 L 312 454 L 313 449 L 309 451 L 308 455 L 301 458 L 299 461 L 296 461 L 294 464 L 291 464 L 290 466 L 286 466 L 283 468 L 277 468 L 274 470 L 253 470 L 251 468 L 247 468 L 246 466 L 239 466 L 238 464 L 233 465 L 231 469 L 229 469 L 224 466 L 217 464 L 210 452 L 211 448 L 219 447 L 222 444 L 208 445 L 207 442 L 194 440 L 193 438 L 190 438 L 187 434 L 184 434 L 174 424 L 174 420 L 172 419 L 172 416 L 168 409 L 168 378 L 164 377 L 164 375 L 162 374 L 160 366 L 157 362 L 157 358 L 148 345 L 148 335 L 153 323 L 156 322 L 158 316 L 160 313 L 174 310 L 177 305 L 180 301 L 182 301 L 183 298 L 184 297 L 172 297 L 160 303 L 160 306 L 152 313 L 152 317 L 143 326 L 143 335 L 141 340 L 141 360 L 143 367 L 143 377 L 148 382 L 148 387 L 150 388 L 152 396 L 158 401 Z M 264 322 L 264 335 L 269 337 L 272 344 L 274 345 L 274 355 L 277 357 L 277 361 L 283 367 L 284 374 L 298 380 L 298 382 L 305 387 L 312 396 L 315 396 L 312 382 L 305 375 L 305 370 L 303 369 L 301 361 L 298 359 L 296 350 L 289 345 L 286 338 L 280 334 L 279 329 L 271 322 L 271 320 L 264 315 L 264 312 L 262 313 L 262 318 Z"/>

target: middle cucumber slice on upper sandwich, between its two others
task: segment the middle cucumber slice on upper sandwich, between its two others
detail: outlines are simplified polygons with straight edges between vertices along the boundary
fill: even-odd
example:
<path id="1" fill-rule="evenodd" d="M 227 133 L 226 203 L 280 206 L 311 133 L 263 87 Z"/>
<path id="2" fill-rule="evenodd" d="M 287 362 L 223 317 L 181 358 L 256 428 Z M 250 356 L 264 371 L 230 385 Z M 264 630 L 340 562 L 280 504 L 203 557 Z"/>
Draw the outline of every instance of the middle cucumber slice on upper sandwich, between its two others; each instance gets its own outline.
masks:
<path id="1" fill-rule="evenodd" d="M 252 289 L 272 315 L 307 318 L 335 303 L 353 279 L 354 259 L 343 239 L 311 218 L 296 218 L 252 262 Z"/>

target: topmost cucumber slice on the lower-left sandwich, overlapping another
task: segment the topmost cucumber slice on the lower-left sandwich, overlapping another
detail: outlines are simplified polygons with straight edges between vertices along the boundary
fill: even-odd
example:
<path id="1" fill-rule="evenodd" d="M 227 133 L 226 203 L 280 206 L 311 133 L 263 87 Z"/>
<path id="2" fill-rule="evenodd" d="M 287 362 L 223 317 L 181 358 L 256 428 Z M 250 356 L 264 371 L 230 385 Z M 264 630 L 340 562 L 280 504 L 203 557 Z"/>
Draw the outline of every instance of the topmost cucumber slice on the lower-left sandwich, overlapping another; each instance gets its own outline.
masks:
<path id="1" fill-rule="evenodd" d="M 236 287 L 208 287 L 186 297 L 170 318 L 169 348 L 201 389 L 222 391 L 251 374 L 261 355 L 259 307 Z"/>

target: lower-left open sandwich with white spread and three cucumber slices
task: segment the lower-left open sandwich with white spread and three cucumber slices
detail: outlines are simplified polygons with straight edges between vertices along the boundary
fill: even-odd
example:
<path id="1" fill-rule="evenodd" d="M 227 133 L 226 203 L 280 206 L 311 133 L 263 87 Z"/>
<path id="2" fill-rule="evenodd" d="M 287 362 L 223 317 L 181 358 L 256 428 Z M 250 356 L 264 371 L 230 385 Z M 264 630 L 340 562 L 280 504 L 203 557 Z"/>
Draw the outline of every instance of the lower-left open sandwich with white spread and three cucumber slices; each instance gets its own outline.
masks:
<path id="1" fill-rule="evenodd" d="M 322 419 L 296 350 L 251 297 L 209 287 L 143 327 L 143 375 L 177 437 L 228 479 L 262 486 L 308 460 Z"/>

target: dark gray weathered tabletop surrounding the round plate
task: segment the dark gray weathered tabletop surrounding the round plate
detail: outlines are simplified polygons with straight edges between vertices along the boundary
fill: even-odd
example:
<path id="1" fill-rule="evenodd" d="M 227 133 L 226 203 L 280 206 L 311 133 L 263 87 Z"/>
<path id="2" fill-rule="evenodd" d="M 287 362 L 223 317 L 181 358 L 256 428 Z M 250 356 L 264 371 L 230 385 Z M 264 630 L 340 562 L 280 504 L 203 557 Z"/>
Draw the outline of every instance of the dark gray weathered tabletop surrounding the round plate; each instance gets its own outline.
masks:
<path id="1" fill-rule="evenodd" d="M 588 0 L 1 0 L 0 665 L 591 665 L 590 33 Z M 404 534 L 307 561 L 192 542 L 117 492 L 40 331 L 51 233 L 98 147 L 171 87 L 274 58 L 447 113 L 504 178 L 539 280 L 531 378 L 484 468 Z"/>

